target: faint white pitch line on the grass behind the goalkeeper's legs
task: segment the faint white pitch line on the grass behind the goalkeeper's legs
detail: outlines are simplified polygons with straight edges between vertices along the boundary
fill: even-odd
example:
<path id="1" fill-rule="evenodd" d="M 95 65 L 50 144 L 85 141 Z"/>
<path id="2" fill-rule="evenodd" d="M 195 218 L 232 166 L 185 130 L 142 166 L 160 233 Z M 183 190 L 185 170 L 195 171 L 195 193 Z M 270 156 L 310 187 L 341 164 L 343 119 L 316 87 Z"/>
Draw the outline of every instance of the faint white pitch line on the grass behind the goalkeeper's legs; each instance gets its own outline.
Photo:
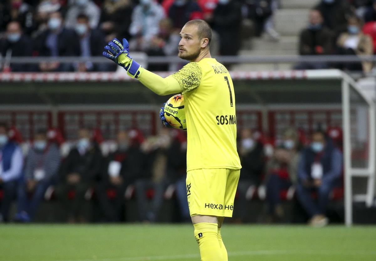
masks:
<path id="1" fill-rule="evenodd" d="M 274 254 L 288 254 L 288 251 L 282 250 L 256 250 L 243 252 L 230 252 L 229 257 L 248 256 L 248 255 L 274 255 Z M 164 256 L 149 256 L 149 257 L 123 257 L 123 258 L 106 258 L 106 259 L 81 259 L 81 260 L 55 260 L 55 261 L 149 261 L 149 260 L 181 260 L 200 258 L 199 254 L 185 254 L 185 255 L 164 255 Z"/>

